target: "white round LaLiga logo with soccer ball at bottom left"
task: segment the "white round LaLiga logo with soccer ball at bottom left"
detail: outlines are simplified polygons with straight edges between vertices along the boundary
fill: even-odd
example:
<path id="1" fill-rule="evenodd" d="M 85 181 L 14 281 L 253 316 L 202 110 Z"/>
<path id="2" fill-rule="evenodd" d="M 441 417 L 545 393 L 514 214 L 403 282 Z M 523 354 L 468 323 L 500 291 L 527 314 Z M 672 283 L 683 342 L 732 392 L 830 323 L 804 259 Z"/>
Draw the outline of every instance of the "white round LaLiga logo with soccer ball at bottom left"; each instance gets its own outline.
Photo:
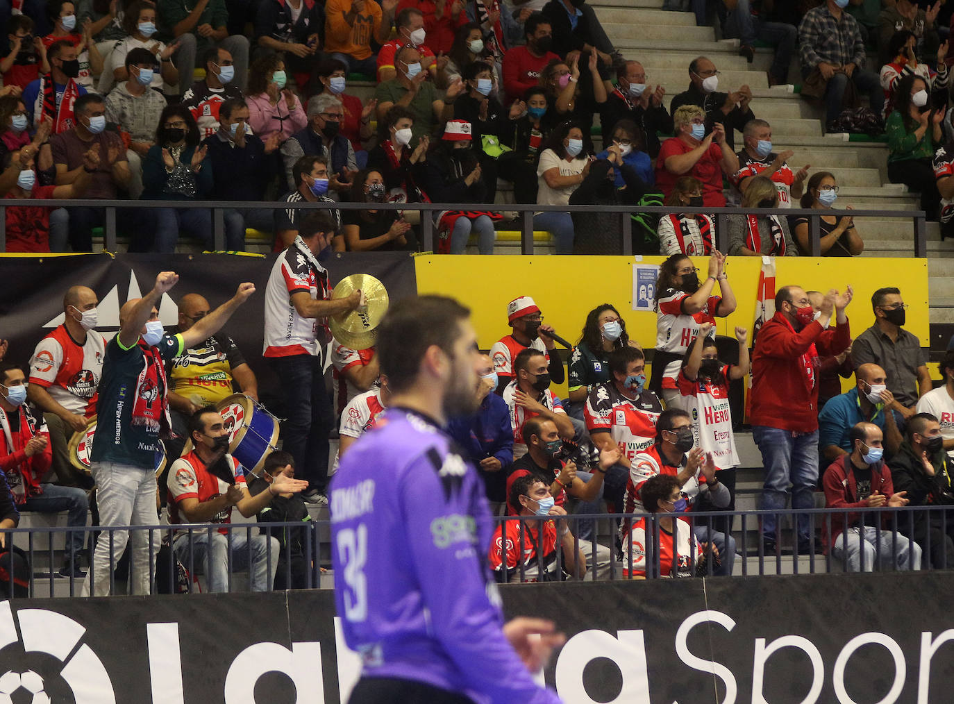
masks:
<path id="1" fill-rule="evenodd" d="M 17 636 L 19 625 L 20 636 Z M 85 643 L 86 628 L 56 611 L 20 609 L 14 616 L 10 602 L 0 602 L 0 651 L 19 643 L 24 652 L 38 652 L 59 660 L 59 676 L 70 687 L 75 704 L 115 704 L 110 675 Z M 0 675 L 0 704 L 11 704 L 21 689 L 32 694 L 31 704 L 50 704 L 43 677 L 32 670 L 9 670 Z"/>

